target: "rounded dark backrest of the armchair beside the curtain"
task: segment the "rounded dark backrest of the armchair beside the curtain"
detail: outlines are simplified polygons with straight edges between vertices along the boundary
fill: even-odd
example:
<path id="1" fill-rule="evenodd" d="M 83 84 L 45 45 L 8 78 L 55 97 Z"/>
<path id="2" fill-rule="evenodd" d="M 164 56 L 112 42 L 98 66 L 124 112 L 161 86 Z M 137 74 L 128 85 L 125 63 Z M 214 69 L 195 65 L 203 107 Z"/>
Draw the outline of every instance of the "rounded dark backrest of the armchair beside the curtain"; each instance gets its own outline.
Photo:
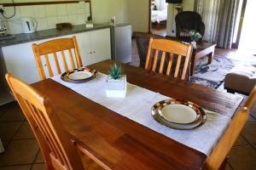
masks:
<path id="1" fill-rule="evenodd" d="M 198 31 L 203 37 L 205 34 L 205 24 L 201 19 L 201 15 L 194 11 L 183 11 L 175 16 L 176 37 L 181 39 L 181 32 Z"/>

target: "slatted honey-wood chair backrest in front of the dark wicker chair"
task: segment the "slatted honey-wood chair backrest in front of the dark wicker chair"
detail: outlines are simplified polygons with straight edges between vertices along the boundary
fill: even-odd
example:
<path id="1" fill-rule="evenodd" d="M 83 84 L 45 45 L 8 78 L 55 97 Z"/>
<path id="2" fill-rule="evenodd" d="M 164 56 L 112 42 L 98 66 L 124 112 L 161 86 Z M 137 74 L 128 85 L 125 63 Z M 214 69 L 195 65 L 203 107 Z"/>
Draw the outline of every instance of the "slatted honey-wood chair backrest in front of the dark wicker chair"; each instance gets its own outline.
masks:
<path id="1" fill-rule="evenodd" d="M 157 65 L 159 65 L 160 61 L 158 72 L 163 73 L 164 67 L 165 65 L 167 65 L 166 75 L 170 76 L 172 73 L 172 65 L 176 65 L 173 77 L 185 80 L 188 77 L 189 63 L 192 51 L 193 48 L 191 44 L 185 44 L 183 42 L 177 42 L 167 39 L 155 39 L 151 37 L 148 46 L 148 55 L 146 59 L 145 69 L 148 71 L 156 72 Z M 166 54 L 168 55 L 169 59 L 166 59 Z M 160 59 L 158 59 L 159 56 Z M 175 57 L 177 57 L 177 62 L 173 62 Z M 184 63 L 182 65 L 183 59 Z M 180 69 L 182 69 L 182 71 L 180 71 Z"/>

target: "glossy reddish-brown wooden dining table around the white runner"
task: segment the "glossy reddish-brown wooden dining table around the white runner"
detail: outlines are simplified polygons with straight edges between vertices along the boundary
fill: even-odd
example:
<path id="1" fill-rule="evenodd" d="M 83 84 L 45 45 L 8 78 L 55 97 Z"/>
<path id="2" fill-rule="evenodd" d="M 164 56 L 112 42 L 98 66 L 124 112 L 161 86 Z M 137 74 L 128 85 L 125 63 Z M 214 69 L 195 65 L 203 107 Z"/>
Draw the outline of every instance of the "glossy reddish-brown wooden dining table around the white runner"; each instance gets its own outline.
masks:
<path id="1" fill-rule="evenodd" d="M 88 67 L 108 74 L 110 65 L 113 61 L 105 60 Z M 127 82 L 172 99 L 189 100 L 221 115 L 235 114 L 243 100 L 234 94 L 119 65 Z M 106 169 L 201 169 L 205 165 L 207 156 L 200 151 L 133 122 L 52 79 L 32 86 L 49 97 L 79 150 Z"/>

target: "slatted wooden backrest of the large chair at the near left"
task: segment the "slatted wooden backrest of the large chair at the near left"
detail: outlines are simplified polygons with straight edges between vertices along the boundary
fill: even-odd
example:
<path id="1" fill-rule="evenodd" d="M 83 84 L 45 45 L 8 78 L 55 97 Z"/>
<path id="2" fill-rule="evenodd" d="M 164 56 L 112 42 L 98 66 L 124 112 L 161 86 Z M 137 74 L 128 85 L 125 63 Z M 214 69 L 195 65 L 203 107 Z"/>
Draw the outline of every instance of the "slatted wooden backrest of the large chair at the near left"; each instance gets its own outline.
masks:
<path id="1" fill-rule="evenodd" d="M 61 126 L 49 99 L 10 74 L 5 77 L 38 139 L 48 169 L 84 169 L 79 154 Z"/>

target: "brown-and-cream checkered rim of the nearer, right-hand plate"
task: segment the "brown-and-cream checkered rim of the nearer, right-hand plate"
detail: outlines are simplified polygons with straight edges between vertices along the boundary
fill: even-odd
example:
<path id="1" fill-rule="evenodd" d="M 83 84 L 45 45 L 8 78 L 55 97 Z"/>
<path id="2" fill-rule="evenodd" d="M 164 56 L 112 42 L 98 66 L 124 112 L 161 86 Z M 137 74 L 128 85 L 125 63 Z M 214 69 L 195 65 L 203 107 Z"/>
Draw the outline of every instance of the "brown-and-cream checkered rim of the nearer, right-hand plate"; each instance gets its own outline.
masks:
<path id="1" fill-rule="evenodd" d="M 163 105 L 164 103 L 166 103 L 166 101 L 168 100 L 162 100 L 154 104 L 151 108 L 151 114 L 156 122 L 159 122 L 160 124 L 166 127 L 170 127 L 178 130 L 194 129 L 196 127 L 201 127 L 205 122 L 207 122 L 207 113 L 201 107 L 198 107 L 200 111 L 200 116 L 195 122 L 191 122 L 187 124 L 178 124 L 178 123 L 166 121 L 166 119 L 160 116 L 160 113 L 159 113 L 160 105 Z"/>

